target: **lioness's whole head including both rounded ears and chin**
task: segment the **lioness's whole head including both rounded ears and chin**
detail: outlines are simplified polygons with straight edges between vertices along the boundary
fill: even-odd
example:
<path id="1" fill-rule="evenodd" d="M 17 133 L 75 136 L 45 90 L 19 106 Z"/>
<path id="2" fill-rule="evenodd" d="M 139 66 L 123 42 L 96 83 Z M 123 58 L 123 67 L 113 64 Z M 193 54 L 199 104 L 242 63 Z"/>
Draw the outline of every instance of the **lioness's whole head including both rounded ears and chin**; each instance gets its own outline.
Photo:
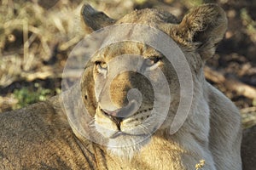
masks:
<path id="1" fill-rule="evenodd" d="M 106 14 L 84 6 L 82 16 L 90 30 L 114 23 L 135 23 L 165 32 L 183 51 L 195 90 L 203 80 L 205 60 L 212 57 L 226 29 L 224 11 L 212 4 L 195 8 L 181 23 L 172 14 L 155 9 L 134 11 L 120 20 L 110 20 Z M 97 23 L 94 17 L 103 21 Z M 162 115 L 163 105 L 154 105 L 155 101 L 164 104 L 170 95 L 154 93 L 153 84 L 162 81 L 160 71 L 172 96 L 167 116 Z M 155 130 L 166 130 L 180 99 L 180 84 L 173 65 L 166 56 L 141 42 L 116 42 L 98 51 L 86 66 L 81 88 L 96 132 L 108 141 L 108 149 L 119 156 L 131 157 L 148 143 Z"/>

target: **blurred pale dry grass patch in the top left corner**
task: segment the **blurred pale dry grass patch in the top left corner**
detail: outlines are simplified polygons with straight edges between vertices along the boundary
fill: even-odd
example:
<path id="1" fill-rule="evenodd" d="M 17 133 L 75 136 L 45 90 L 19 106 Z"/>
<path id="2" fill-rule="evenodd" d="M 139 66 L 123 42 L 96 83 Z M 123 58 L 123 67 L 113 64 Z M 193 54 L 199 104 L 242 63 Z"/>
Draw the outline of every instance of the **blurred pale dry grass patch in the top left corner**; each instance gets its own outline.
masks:
<path id="1" fill-rule="evenodd" d="M 26 79 L 29 73 L 45 72 L 44 67 L 58 44 L 60 53 L 67 54 L 83 36 L 79 30 L 79 6 L 45 10 L 37 3 L 4 3 L 0 6 L 0 85 Z M 26 73 L 22 75 L 20 73 Z"/>

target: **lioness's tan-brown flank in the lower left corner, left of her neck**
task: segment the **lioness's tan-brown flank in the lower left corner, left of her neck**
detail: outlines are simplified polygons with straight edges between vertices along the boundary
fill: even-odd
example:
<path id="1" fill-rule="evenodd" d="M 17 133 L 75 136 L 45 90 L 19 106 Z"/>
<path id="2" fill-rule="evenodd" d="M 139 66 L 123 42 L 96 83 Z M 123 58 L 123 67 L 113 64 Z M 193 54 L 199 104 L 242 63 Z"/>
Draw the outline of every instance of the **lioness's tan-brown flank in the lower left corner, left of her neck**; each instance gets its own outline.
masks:
<path id="1" fill-rule="evenodd" d="M 62 114 L 55 107 L 55 99 L 0 114 L 1 166 L 15 169 L 82 166 L 86 162 L 83 150 Z"/>

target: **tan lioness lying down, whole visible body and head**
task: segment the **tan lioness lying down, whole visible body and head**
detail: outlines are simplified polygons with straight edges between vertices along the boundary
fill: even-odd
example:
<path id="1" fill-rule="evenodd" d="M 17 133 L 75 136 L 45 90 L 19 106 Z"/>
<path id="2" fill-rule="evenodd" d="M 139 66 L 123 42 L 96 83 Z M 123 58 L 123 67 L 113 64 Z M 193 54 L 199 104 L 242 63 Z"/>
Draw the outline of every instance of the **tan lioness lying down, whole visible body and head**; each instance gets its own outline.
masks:
<path id="1" fill-rule="evenodd" d="M 172 14 L 156 9 L 133 11 L 113 20 L 84 5 L 81 14 L 87 31 L 133 23 L 157 28 L 172 37 L 192 74 L 193 100 L 187 119 L 176 133 L 170 133 L 183 97 L 175 65 L 147 44 L 113 43 L 90 59 L 81 82 L 65 93 L 19 111 L 0 114 L 0 169 L 192 170 L 201 160 L 205 160 L 198 167 L 202 169 L 241 169 L 239 111 L 203 74 L 206 60 L 215 53 L 226 31 L 227 19 L 222 8 L 216 4 L 201 5 L 181 22 Z M 160 77 L 157 69 L 166 77 L 172 98 L 160 127 L 157 123 L 161 117 L 155 114 L 161 113 L 154 112 L 154 99 L 159 100 L 160 96 L 154 95 L 155 89 L 147 77 L 137 71 L 123 71 L 113 78 L 109 87 L 106 85 L 108 75 L 115 74 L 118 67 L 111 60 L 124 54 L 139 55 L 132 65 L 147 72 L 153 82 L 158 82 Z M 129 58 L 124 62 L 122 65 L 128 65 Z M 77 88 L 81 88 L 82 102 L 74 95 Z M 142 101 L 127 98 L 133 96 L 129 94 L 133 88 L 140 91 L 135 94 L 141 95 Z M 69 99 L 72 105 L 65 108 L 62 99 Z M 89 112 L 87 118 L 80 110 L 84 105 Z M 84 120 L 84 123 L 76 124 L 73 120 Z M 81 127 L 90 139 L 102 139 L 106 145 L 84 137 Z"/>

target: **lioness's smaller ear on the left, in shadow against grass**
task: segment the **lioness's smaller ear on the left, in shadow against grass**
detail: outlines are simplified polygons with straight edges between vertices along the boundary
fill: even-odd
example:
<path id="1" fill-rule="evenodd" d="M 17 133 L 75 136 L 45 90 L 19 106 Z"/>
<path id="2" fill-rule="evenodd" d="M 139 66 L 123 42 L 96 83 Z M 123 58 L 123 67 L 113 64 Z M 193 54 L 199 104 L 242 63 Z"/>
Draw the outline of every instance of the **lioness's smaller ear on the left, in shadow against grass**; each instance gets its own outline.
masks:
<path id="1" fill-rule="evenodd" d="M 97 11 L 89 4 L 84 4 L 81 9 L 81 18 L 84 21 L 86 31 L 96 31 L 105 26 L 113 25 L 115 20 L 101 11 Z"/>

